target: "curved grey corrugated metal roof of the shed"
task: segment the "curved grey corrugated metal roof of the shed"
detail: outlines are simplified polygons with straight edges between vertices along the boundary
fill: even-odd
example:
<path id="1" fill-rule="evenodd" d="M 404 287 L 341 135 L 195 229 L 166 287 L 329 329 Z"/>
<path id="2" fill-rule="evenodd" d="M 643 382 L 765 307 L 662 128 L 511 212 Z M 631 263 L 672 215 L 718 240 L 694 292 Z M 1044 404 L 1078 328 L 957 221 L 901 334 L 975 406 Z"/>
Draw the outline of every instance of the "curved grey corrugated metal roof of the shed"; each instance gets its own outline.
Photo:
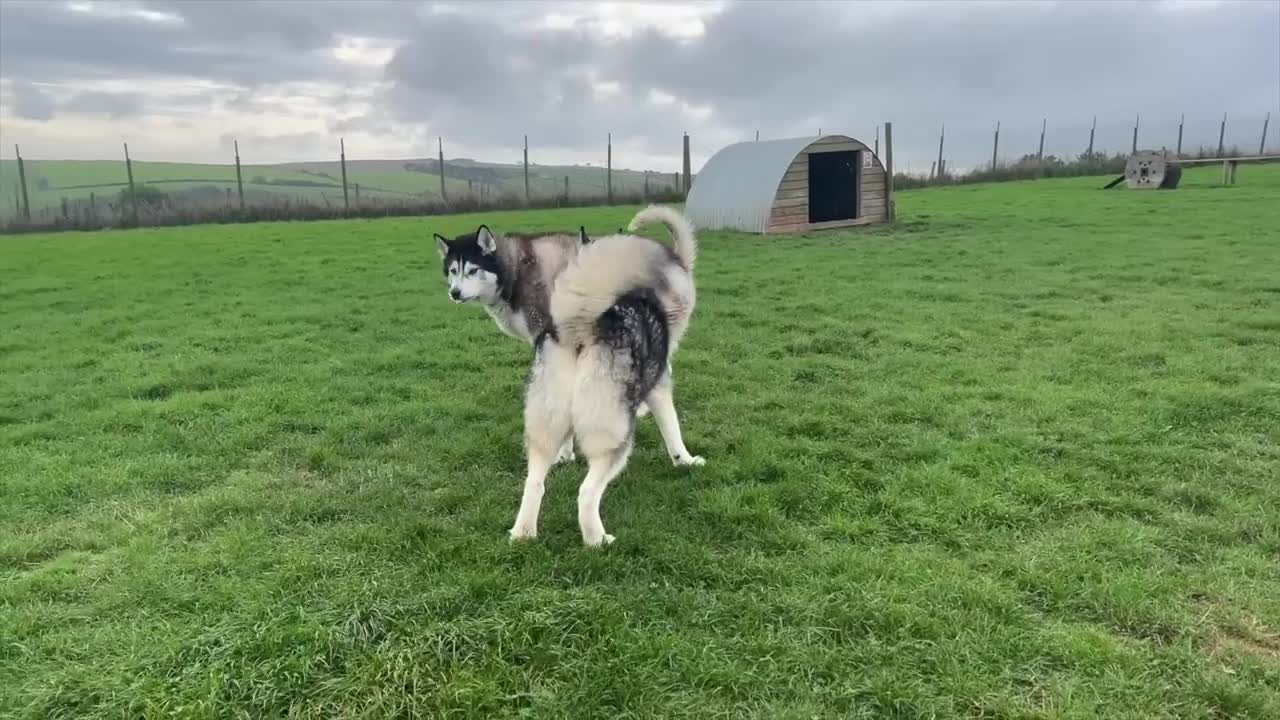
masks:
<path id="1" fill-rule="evenodd" d="M 721 149 L 703 165 L 689 188 L 685 214 L 704 229 L 763 233 L 787 167 L 818 140 L 788 137 L 739 142 Z"/>

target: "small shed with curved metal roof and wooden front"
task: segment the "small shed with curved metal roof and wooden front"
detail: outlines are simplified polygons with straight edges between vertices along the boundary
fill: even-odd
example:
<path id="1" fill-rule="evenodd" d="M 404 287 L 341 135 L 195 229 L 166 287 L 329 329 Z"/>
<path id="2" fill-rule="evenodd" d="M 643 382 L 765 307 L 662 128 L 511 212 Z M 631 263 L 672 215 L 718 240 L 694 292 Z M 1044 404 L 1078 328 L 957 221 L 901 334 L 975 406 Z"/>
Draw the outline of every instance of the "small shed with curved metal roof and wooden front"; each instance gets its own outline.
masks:
<path id="1" fill-rule="evenodd" d="M 788 233 L 888 219 L 886 173 L 844 136 L 730 145 L 698 173 L 685 214 L 704 229 Z"/>

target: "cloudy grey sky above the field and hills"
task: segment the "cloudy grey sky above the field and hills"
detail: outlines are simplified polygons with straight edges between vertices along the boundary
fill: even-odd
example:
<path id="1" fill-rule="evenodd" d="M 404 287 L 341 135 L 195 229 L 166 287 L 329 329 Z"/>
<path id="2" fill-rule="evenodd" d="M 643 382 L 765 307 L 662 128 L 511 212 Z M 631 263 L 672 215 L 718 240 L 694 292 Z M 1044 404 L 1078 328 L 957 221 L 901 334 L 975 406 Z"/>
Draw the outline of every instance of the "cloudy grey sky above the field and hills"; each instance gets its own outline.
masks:
<path id="1" fill-rule="evenodd" d="M 0 0 L 0 156 L 434 156 L 676 170 L 893 123 L 899 168 L 1097 146 L 1280 150 L 1280 0 Z"/>

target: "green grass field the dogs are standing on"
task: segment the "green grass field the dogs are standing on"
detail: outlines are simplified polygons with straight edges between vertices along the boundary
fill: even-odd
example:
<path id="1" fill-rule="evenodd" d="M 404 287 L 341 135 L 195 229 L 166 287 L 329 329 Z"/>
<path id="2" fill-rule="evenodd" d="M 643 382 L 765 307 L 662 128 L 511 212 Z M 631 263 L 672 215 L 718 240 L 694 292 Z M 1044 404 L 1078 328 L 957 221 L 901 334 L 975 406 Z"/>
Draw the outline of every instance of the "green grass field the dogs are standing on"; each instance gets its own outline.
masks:
<path id="1" fill-rule="evenodd" d="M 0 716 L 1277 717 L 1280 168 L 704 233 L 580 546 L 430 233 L 0 238 Z"/>

